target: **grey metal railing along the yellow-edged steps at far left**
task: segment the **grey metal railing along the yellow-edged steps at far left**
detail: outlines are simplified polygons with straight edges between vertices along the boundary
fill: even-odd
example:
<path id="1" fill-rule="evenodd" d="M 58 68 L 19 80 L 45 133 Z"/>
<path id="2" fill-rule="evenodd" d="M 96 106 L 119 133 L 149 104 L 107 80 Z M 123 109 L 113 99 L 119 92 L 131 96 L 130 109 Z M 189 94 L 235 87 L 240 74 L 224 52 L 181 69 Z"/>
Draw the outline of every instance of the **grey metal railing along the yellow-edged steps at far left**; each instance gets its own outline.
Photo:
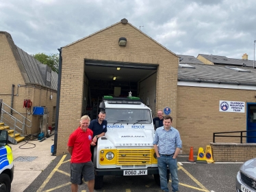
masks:
<path id="1" fill-rule="evenodd" d="M 6 126 L 10 126 L 10 129 L 14 130 L 14 137 L 15 133 L 19 131 L 21 135 L 24 136 L 25 128 L 31 128 L 31 120 L 27 119 L 24 115 L 18 113 L 18 111 L 12 109 L 12 107 L 6 105 L 4 102 L 1 102 L 1 104 L 1 122 L 4 122 Z M 12 113 L 8 111 L 12 111 Z"/>

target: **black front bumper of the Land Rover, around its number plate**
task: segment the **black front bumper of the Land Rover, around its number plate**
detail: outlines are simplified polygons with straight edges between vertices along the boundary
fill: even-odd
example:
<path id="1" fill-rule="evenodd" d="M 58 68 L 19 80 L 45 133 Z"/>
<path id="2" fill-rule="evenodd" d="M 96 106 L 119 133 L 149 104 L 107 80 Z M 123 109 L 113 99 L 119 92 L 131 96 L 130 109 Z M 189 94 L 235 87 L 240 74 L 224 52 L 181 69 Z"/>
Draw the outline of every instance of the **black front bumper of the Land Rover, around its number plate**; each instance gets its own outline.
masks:
<path id="1" fill-rule="evenodd" d="M 96 176 L 123 176 L 124 170 L 136 171 L 138 169 L 97 169 L 95 168 L 95 175 Z M 146 170 L 148 171 L 148 175 L 159 174 L 157 167 L 148 167 Z"/>

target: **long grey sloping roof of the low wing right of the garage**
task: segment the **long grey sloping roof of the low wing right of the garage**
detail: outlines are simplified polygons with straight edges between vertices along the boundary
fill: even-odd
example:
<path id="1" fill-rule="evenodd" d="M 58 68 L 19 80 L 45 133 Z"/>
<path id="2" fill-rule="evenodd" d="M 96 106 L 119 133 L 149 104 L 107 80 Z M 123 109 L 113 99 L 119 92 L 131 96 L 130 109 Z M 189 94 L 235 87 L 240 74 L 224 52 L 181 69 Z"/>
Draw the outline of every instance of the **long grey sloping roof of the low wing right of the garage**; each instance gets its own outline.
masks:
<path id="1" fill-rule="evenodd" d="M 256 70 L 253 68 L 238 67 L 238 69 L 247 71 L 241 72 L 232 69 L 231 66 L 205 64 L 189 64 L 189 66 L 192 68 L 179 66 L 178 81 L 256 85 Z"/>

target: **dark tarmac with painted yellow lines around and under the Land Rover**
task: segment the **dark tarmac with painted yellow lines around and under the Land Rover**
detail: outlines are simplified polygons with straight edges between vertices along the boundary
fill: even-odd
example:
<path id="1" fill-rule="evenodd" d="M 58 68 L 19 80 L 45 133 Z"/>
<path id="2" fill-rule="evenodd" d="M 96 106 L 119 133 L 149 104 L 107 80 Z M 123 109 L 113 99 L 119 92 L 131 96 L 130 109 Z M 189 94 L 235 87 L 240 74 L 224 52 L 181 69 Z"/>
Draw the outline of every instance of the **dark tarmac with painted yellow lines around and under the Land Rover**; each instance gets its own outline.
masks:
<path id="1" fill-rule="evenodd" d="M 179 156 L 179 191 L 235 191 L 235 176 L 241 163 L 187 163 L 188 157 Z M 25 192 L 71 191 L 70 156 L 57 158 L 44 169 Z M 169 189 L 170 182 L 169 182 Z M 87 183 L 79 185 L 79 191 L 88 191 Z M 153 176 L 105 176 L 102 192 L 161 191 Z M 170 190 L 171 191 L 171 190 Z"/>

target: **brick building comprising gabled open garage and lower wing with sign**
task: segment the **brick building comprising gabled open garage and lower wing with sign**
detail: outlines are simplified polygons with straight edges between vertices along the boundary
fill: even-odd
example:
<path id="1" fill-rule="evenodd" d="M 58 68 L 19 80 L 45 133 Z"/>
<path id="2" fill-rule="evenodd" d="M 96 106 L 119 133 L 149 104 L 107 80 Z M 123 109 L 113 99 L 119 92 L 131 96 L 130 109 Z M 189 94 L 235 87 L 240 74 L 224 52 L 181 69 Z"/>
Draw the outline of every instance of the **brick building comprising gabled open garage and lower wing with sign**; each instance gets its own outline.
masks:
<path id="1" fill-rule="evenodd" d="M 153 116 L 157 109 L 170 107 L 183 154 L 190 146 L 205 148 L 214 132 L 247 129 L 246 106 L 244 113 L 225 113 L 220 111 L 220 100 L 252 103 L 252 113 L 255 110 L 253 68 L 243 73 L 176 55 L 126 19 L 63 46 L 61 54 L 57 155 L 67 152 L 68 137 L 79 126 L 81 115 L 97 117 L 103 95 L 128 96 L 131 91 L 148 102 Z"/>

